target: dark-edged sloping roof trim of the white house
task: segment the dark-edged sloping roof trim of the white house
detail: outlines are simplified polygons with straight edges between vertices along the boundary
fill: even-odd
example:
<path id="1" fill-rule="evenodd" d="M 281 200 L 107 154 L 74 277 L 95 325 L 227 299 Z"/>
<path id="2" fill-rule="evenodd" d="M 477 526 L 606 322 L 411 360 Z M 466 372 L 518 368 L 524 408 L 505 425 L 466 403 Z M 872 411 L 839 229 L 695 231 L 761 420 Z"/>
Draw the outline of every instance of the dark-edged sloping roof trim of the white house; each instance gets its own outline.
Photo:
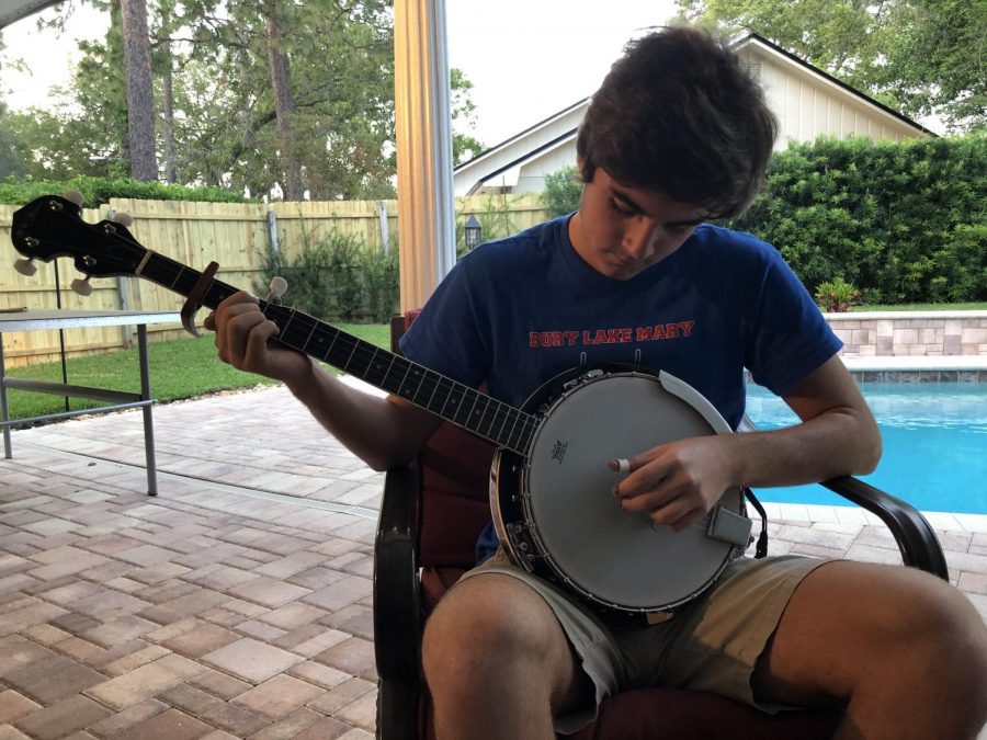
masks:
<path id="1" fill-rule="evenodd" d="M 882 112 L 886 113 L 887 115 L 893 116 L 897 121 L 904 123 L 905 125 L 907 125 L 911 128 L 915 128 L 917 132 L 921 132 L 922 134 L 926 134 L 929 136 L 937 136 L 937 134 L 934 132 L 926 128 L 921 124 L 903 115 L 898 111 L 895 111 L 894 109 L 888 107 L 884 103 L 882 103 L 877 100 L 874 100 L 873 98 L 871 98 L 870 95 L 867 95 L 864 92 L 861 92 L 856 88 L 853 88 L 852 86 L 849 86 L 846 82 L 842 82 L 841 80 L 839 80 L 836 77 L 833 77 L 832 75 L 829 75 L 828 72 L 819 69 L 818 67 L 810 65 L 809 62 L 805 61 L 804 59 L 801 59 L 799 57 L 792 54 L 791 52 L 786 52 L 784 48 L 782 48 L 778 44 L 774 44 L 773 42 L 768 41 L 767 38 L 764 38 L 763 36 L 761 36 L 758 33 L 749 32 L 749 33 L 740 36 L 739 38 L 737 38 L 730 45 L 735 49 L 739 50 L 751 43 L 763 47 L 769 53 L 773 53 L 773 54 L 776 54 L 778 56 L 781 56 L 783 59 L 785 59 L 790 64 L 797 65 L 801 69 L 805 70 L 807 73 L 809 73 L 812 76 L 816 76 L 818 78 L 821 78 L 821 79 L 826 80 L 827 82 L 840 88 L 848 94 L 853 95 L 854 98 L 856 98 L 861 101 L 864 101 L 865 103 L 869 103 L 870 105 L 873 105 L 874 107 L 878 109 L 880 111 L 882 111 Z M 491 159 L 495 155 L 503 151 L 508 147 L 519 143 L 520 140 L 522 140 L 524 138 L 531 137 L 533 134 L 535 134 L 536 132 L 538 132 L 541 129 L 548 127 L 555 121 L 563 117 L 564 115 L 567 115 L 568 113 L 572 112 L 574 110 L 580 109 L 580 107 L 585 109 L 586 106 L 589 105 L 589 101 L 590 101 L 589 98 L 583 98 L 582 100 L 563 109 L 561 111 L 558 111 L 557 113 L 548 116 L 547 118 L 540 121 L 538 123 L 536 123 L 532 126 L 529 126 L 524 130 L 515 134 L 514 136 L 511 136 L 509 139 L 506 139 L 503 141 L 501 141 L 500 144 L 497 144 L 488 149 L 485 149 L 484 151 L 478 153 L 476 157 L 473 157 L 472 159 L 461 163 L 458 167 L 455 168 L 454 171 L 456 173 L 460 173 L 460 172 L 463 172 L 468 169 L 481 168 L 485 160 Z M 531 161 L 531 160 L 542 156 L 544 152 L 551 150 L 554 147 L 558 147 L 560 145 L 568 143 L 569 140 L 575 138 L 577 130 L 578 130 L 578 127 L 574 126 L 572 128 L 566 130 L 564 134 L 555 136 L 551 141 L 543 143 L 540 146 L 534 147 L 532 149 L 525 149 L 522 155 L 513 158 L 508 164 L 500 164 L 495 170 L 491 170 L 490 172 L 485 173 L 481 178 L 478 178 L 477 184 L 475 187 L 480 186 L 484 182 L 494 180 L 495 178 L 503 174 L 504 172 L 510 171 L 512 168 L 518 168 L 518 167 L 524 164 L 525 162 Z"/>

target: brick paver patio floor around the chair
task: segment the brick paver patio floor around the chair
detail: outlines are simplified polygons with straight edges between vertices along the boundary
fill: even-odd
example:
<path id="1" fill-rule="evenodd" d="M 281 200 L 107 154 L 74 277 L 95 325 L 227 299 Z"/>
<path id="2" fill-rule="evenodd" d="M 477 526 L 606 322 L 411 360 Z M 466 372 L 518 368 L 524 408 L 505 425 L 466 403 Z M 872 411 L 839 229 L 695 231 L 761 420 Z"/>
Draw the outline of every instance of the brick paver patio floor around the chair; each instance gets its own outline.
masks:
<path id="1" fill-rule="evenodd" d="M 383 476 L 283 388 L 14 432 L 0 460 L 0 740 L 373 737 Z M 900 562 L 855 510 L 772 553 Z M 949 520 L 952 522 L 953 520 Z M 987 617 L 987 526 L 941 532 Z"/>

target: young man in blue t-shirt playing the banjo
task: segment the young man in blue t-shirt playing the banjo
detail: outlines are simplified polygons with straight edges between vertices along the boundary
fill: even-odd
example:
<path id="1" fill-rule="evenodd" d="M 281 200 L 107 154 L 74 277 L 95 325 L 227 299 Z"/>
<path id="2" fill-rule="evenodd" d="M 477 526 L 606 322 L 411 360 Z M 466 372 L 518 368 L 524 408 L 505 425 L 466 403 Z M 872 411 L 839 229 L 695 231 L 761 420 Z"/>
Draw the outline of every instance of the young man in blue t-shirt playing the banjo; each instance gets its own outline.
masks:
<path id="1" fill-rule="evenodd" d="M 627 451 L 621 505 L 677 531 L 734 486 L 872 470 L 876 425 L 805 289 L 772 247 L 705 223 L 749 203 L 774 134 L 757 84 L 704 33 L 666 29 L 629 44 L 580 129 L 579 210 L 463 259 L 405 353 L 514 406 L 581 362 L 637 360 L 688 382 L 734 428 L 749 368 L 802 423 Z M 674 330 L 581 341 L 659 325 Z M 223 360 L 284 380 L 377 469 L 411 458 L 439 423 L 270 345 L 276 327 L 252 296 L 225 301 L 208 326 Z M 670 618 L 628 627 L 513 566 L 492 533 L 478 549 L 489 559 L 426 627 L 440 737 L 551 738 L 588 722 L 602 697 L 644 685 L 768 711 L 844 705 L 840 738 L 973 738 L 987 716 L 983 621 L 956 590 L 911 569 L 741 559 Z"/>

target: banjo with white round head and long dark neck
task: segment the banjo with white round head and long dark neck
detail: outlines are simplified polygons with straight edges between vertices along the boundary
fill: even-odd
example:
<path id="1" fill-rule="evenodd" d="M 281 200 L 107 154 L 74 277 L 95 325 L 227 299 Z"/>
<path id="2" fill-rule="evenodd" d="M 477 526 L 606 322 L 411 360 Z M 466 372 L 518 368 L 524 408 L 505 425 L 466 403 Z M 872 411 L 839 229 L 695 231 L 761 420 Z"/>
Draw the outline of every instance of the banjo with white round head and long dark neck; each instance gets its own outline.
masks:
<path id="1" fill-rule="evenodd" d="M 88 224 L 64 197 L 36 198 L 13 215 L 11 239 L 31 261 L 70 257 L 90 277 L 138 276 L 188 298 L 185 328 L 201 306 L 216 308 L 237 288 L 144 248 L 121 224 Z M 88 285 L 87 285 L 88 287 Z M 513 560 L 595 607 L 667 611 L 706 588 L 751 542 L 744 489 L 726 490 L 705 517 L 673 533 L 643 512 L 624 511 L 611 459 L 689 436 L 728 434 L 729 425 L 684 382 L 620 365 L 559 376 L 514 408 L 311 316 L 261 300 L 280 329 L 272 340 L 399 396 L 494 443 L 490 508 Z M 614 554 L 620 553 L 620 558 Z M 617 561 L 619 560 L 619 561 Z"/>

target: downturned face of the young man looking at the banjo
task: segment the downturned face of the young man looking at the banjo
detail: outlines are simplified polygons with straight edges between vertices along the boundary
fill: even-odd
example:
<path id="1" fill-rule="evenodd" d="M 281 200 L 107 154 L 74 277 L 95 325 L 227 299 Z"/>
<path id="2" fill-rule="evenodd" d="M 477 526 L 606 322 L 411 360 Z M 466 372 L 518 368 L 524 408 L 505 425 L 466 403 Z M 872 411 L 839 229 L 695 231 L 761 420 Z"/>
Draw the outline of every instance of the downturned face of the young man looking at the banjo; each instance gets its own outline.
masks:
<path id="1" fill-rule="evenodd" d="M 629 280 L 679 249 L 702 214 L 702 208 L 655 191 L 622 185 L 598 167 L 592 182 L 583 185 L 569 239 L 593 270 Z"/>

